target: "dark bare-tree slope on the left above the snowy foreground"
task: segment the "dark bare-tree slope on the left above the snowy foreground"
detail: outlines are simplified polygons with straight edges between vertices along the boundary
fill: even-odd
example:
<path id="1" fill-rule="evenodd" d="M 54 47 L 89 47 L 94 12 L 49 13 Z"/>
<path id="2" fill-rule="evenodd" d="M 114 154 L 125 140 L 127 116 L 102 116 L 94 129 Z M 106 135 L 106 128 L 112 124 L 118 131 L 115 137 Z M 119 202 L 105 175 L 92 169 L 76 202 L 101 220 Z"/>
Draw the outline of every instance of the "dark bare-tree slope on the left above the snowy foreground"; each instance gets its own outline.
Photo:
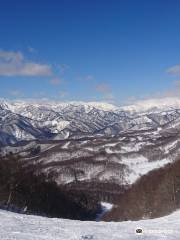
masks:
<path id="1" fill-rule="evenodd" d="M 27 165 L 13 154 L 0 157 L 0 206 L 80 220 L 93 220 L 99 211 L 96 199 L 58 186 L 51 174 L 37 171 L 36 164 Z"/>

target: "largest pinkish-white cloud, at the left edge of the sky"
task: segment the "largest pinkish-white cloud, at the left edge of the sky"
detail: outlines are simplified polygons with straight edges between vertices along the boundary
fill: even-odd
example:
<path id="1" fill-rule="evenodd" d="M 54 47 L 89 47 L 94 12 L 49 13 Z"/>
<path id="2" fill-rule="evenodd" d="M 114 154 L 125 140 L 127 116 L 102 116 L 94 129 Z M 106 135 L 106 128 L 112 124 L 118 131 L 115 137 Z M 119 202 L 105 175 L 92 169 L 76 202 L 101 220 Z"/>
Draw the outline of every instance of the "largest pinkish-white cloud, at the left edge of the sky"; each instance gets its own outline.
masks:
<path id="1" fill-rule="evenodd" d="M 49 76 L 50 65 L 28 61 L 21 52 L 0 50 L 0 76 Z"/>

